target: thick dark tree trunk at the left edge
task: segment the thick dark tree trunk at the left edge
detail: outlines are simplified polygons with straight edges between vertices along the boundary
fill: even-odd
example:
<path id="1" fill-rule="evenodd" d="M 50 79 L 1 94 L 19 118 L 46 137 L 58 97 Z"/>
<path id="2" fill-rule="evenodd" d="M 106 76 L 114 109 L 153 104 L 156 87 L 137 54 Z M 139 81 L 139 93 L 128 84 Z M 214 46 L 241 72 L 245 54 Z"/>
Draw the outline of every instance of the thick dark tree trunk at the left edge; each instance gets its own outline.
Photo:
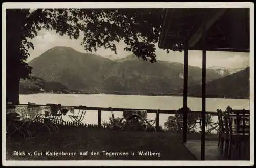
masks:
<path id="1" fill-rule="evenodd" d="M 19 104 L 19 81 L 23 77 L 21 27 L 24 25 L 24 12 L 18 9 L 6 11 L 6 102 Z"/>

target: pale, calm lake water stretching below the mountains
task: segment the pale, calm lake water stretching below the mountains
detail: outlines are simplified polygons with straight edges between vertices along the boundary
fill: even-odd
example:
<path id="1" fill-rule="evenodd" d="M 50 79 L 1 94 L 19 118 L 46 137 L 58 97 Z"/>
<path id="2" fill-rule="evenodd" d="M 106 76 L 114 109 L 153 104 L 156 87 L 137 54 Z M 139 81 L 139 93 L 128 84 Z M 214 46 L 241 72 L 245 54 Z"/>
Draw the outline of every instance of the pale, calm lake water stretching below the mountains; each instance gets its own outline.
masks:
<path id="1" fill-rule="evenodd" d="M 89 107 L 113 107 L 113 108 L 144 108 L 144 109 L 162 109 L 178 110 L 183 107 L 182 96 L 141 96 L 141 95 L 105 95 L 105 94 L 28 94 L 19 95 L 20 103 L 27 104 L 33 102 L 36 104 L 54 103 L 68 106 L 89 106 Z M 201 98 L 188 97 L 188 107 L 194 111 L 201 111 Z M 248 99 L 219 99 L 206 98 L 206 111 L 216 112 L 217 109 L 225 110 L 227 106 L 233 109 L 249 109 Z M 78 110 L 75 111 L 77 113 Z M 121 117 L 121 112 L 114 112 L 115 117 Z M 69 114 L 63 117 L 70 121 Z M 159 125 L 164 122 L 171 114 L 160 114 Z M 155 119 L 155 114 L 148 114 L 148 119 Z M 109 121 L 110 111 L 102 111 L 101 121 Z M 218 117 L 214 117 L 217 121 Z M 87 111 L 84 123 L 97 124 L 97 111 Z"/>

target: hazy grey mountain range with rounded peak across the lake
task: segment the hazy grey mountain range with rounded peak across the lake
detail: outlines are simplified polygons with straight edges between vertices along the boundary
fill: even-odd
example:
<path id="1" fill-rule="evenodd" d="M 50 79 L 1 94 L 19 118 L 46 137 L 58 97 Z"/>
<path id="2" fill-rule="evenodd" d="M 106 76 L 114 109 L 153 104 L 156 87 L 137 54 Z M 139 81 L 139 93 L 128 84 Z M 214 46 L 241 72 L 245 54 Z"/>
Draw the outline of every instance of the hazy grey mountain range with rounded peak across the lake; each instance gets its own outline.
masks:
<path id="1" fill-rule="evenodd" d="M 28 64 L 33 68 L 33 76 L 61 83 L 69 90 L 106 94 L 182 94 L 183 64 L 178 62 L 150 63 L 133 54 L 109 59 L 70 47 L 53 47 Z M 188 85 L 200 86 L 201 75 L 201 68 L 188 66 Z M 206 82 L 226 75 L 216 69 L 206 69 Z"/>

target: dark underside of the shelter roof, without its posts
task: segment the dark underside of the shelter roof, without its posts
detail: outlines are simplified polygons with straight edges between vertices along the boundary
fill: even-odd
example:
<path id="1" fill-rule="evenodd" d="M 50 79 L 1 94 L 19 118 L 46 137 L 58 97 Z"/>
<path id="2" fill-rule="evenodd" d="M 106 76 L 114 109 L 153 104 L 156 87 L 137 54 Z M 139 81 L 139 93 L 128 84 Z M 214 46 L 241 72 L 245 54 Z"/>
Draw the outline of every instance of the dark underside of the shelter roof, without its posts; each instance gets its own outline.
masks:
<path id="1" fill-rule="evenodd" d="M 203 26 L 206 50 L 249 52 L 249 8 L 165 9 L 159 48 L 187 41 L 189 50 L 201 50 Z"/>

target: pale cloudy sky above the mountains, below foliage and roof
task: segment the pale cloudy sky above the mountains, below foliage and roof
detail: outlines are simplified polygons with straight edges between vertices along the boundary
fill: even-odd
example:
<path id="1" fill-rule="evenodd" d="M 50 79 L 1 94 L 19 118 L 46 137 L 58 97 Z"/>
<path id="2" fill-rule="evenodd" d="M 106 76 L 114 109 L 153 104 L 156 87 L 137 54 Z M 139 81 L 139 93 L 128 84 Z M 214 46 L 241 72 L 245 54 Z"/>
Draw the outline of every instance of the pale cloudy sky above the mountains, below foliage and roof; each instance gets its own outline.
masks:
<path id="1" fill-rule="evenodd" d="M 67 46 L 79 52 L 86 52 L 83 46 L 80 45 L 82 38 L 80 36 L 77 40 L 71 40 L 68 36 L 60 36 L 54 31 L 40 30 L 38 36 L 31 40 L 35 48 L 29 49 L 30 57 L 27 62 L 38 57 L 40 54 L 46 52 L 54 46 Z M 117 55 L 110 49 L 98 48 L 96 52 L 92 52 L 102 57 L 108 55 L 115 55 L 118 58 L 124 58 L 131 52 L 124 51 L 126 46 L 124 42 L 116 43 Z M 167 53 L 163 49 L 158 48 L 156 44 L 156 59 L 165 60 L 170 62 L 184 63 L 184 52 L 170 51 Z M 226 67 L 226 68 L 243 68 L 249 66 L 249 53 L 242 52 L 220 52 L 220 51 L 207 51 L 206 52 L 206 68 L 212 66 Z M 202 67 L 202 51 L 189 50 L 188 64 L 191 66 Z"/>

